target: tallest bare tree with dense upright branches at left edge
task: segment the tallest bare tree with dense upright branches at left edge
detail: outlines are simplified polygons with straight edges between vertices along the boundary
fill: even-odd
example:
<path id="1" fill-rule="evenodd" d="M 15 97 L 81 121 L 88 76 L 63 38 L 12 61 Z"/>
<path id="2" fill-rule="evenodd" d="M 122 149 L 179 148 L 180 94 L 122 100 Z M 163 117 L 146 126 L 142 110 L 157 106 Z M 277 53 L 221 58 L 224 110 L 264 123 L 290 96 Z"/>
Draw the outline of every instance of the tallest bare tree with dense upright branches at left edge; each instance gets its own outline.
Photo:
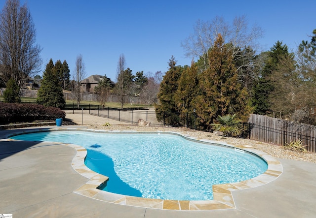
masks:
<path id="1" fill-rule="evenodd" d="M 0 13 L 0 74 L 4 83 L 13 78 L 21 89 L 28 76 L 40 71 L 41 48 L 35 42 L 36 30 L 27 5 L 7 0 Z"/>

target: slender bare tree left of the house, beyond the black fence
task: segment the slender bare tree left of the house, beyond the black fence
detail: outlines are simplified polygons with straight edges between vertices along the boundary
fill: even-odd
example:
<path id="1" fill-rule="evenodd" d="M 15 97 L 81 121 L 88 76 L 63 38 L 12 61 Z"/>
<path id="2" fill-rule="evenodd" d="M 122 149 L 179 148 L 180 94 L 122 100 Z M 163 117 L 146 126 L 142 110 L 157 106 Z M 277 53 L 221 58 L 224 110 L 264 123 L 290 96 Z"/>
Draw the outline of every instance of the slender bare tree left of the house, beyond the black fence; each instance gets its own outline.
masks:
<path id="1" fill-rule="evenodd" d="M 74 84 L 73 92 L 75 93 L 75 99 L 77 100 L 78 107 L 82 99 L 81 81 L 85 78 L 85 76 L 86 76 L 86 72 L 85 72 L 84 62 L 82 60 L 82 55 L 79 54 L 76 58 L 75 72 L 73 74 L 73 80 L 76 81 Z"/>

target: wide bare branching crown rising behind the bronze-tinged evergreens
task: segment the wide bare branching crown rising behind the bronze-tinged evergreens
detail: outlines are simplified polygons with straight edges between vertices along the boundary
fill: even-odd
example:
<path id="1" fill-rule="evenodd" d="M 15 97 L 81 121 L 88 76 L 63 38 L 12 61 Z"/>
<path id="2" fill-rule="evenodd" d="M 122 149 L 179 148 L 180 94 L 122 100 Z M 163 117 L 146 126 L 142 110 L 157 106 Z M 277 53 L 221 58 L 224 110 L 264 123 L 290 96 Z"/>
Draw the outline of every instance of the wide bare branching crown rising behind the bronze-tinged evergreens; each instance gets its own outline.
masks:
<path id="1" fill-rule="evenodd" d="M 256 25 L 249 29 L 245 16 L 236 17 L 232 25 L 229 25 L 223 17 L 215 17 L 211 22 L 198 20 L 194 33 L 182 43 L 182 47 L 186 50 L 187 57 L 203 61 L 201 71 L 206 70 L 209 65 L 208 53 L 214 46 L 218 34 L 222 35 L 226 44 L 230 44 L 234 61 L 243 62 L 241 60 L 248 59 L 249 54 L 241 51 L 247 47 L 256 49 L 256 40 L 263 36 L 263 31 Z M 245 68 L 245 65 L 249 64 L 254 63 L 243 62 L 239 67 Z"/>

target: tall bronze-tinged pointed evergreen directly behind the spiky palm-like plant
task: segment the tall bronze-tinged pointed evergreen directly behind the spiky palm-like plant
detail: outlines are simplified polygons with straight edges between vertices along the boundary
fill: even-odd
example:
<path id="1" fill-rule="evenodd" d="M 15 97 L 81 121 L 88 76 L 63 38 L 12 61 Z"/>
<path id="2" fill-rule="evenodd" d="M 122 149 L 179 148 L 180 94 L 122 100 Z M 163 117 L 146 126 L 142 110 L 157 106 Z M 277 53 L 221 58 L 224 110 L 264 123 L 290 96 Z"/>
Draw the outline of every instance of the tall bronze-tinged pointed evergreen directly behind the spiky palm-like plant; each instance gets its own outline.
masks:
<path id="1" fill-rule="evenodd" d="M 197 116 L 205 128 L 218 116 L 233 115 L 246 121 L 251 112 L 248 93 L 237 81 L 237 69 L 229 45 L 221 34 L 209 53 L 209 67 L 199 75 L 199 95 L 194 100 Z"/>

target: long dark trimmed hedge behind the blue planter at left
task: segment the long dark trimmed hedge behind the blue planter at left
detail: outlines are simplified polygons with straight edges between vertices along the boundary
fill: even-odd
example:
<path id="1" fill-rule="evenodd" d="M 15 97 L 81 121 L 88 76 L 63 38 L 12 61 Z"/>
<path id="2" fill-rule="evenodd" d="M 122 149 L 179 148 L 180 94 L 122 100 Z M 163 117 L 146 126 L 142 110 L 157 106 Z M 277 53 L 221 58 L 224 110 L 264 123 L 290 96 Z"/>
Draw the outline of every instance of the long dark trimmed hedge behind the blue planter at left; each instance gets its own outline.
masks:
<path id="1" fill-rule="evenodd" d="M 33 122 L 35 120 L 48 121 L 65 117 L 65 112 L 55 107 L 0 102 L 0 124 Z"/>

